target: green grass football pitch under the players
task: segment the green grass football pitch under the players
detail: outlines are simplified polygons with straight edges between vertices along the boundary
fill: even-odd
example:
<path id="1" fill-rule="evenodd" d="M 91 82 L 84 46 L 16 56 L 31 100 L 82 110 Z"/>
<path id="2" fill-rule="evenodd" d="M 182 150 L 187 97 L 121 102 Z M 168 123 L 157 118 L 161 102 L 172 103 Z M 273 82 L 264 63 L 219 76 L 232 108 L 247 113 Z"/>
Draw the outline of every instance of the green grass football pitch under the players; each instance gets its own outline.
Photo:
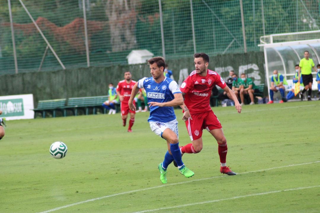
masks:
<path id="1" fill-rule="evenodd" d="M 172 165 L 162 184 L 157 165 L 165 141 L 137 113 L 133 132 L 120 114 L 8 121 L 0 141 L 0 212 L 320 212 L 320 101 L 213 107 L 228 141 L 219 172 L 218 146 L 205 130 L 204 148 L 184 154 L 195 172 Z M 190 142 L 181 110 L 180 145 Z M 54 159 L 50 145 L 68 154 Z"/>

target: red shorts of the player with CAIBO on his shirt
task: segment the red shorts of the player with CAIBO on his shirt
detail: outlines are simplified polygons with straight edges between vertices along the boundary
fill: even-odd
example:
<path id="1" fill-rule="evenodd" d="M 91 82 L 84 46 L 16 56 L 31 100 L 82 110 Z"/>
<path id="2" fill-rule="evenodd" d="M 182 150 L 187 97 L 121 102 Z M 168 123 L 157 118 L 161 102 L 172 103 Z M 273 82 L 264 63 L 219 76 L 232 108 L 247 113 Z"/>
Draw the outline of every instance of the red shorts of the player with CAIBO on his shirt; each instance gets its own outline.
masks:
<path id="1" fill-rule="evenodd" d="M 204 113 L 191 114 L 192 120 L 188 119 L 185 123 L 191 140 L 202 137 L 202 130 L 208 131 L 221 129 L 221 123 L 212 110 Z"/>

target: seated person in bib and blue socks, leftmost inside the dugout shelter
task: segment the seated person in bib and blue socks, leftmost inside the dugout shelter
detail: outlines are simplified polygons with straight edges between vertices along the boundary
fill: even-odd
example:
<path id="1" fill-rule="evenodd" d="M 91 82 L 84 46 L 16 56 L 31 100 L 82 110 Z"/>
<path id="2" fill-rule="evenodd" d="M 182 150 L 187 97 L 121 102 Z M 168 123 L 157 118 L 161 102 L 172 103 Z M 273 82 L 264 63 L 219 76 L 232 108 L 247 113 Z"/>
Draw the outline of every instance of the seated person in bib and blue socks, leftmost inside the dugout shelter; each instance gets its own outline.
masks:
<path id="1" fill-rule="evenodd" d="M 279 103 L 286 102 L 287 99 L 284 97 L 284 91 L 288 86 L 287 81 L 278 73 L 278 70 L 273 71 L 273 76 L 271 77 L 271 87 L 270 87 L 270 101 L 267 104 L 273 104 L 273 94 L 274 92 L 280 91 L 281 101 Z"/>

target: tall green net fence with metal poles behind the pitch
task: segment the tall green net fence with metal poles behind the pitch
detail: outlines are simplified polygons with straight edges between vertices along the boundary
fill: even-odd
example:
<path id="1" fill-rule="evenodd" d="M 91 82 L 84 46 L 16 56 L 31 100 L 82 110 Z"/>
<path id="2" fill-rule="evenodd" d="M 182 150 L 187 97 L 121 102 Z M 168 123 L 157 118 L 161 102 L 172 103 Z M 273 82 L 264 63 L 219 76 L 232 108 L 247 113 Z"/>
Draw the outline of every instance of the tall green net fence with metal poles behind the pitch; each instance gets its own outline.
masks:
<path id="1" fill-rule="evenodd" d="M 140 49 L 166 59 L 243 53 L 244 44 L 260 51 L 260 36 L 319 30 L 320 0 L 242 2 L 245 40 L 240 0 L 11 0 L 15 67 L 8 0 L 0 0 L 0 74 L 127 64 Z"/>

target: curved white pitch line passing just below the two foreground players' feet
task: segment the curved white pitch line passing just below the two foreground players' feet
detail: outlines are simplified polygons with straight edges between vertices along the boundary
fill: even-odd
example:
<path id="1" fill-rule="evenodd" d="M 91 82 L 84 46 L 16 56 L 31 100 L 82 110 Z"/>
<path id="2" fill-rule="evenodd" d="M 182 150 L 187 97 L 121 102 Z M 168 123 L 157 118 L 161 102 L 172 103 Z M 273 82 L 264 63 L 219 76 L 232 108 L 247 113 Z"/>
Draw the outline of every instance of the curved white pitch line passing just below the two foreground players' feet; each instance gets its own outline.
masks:
<path id="1" fill-rule="evenodd" d="M 308 162 L 308 163 L 300 163 L 300 164 L 292 164 L 292 165 L 287 165 L 287 166 L 274 167 L 274 168 L 269 168 L 269 169 L 264 169 L 264 170 L 248 171 L 248 172 L 242 172 L 242 173 L 237 173 L 237 174 L 240 175 L 240 174 L 247 174 L 247 173 L 252 173 L 252 172 L 260 172 L 260 171 L 266 171 L 266 170 L 281 169 L 281 168 L 291 167 L 291 166 L 302 166 L 302 165 L 307 165 L 307 164 L 311 164 L 311 163 L 320 163 L 320 161 Z M 128 192 L 121 192 L 121 193 L 116 193 L 116 194 L 110 194 L 110 195 L 106 195 L 106 196 L 98 197 L 98 198 L 93 198 L 93 199 L 86 200 L 86 201 L 80 201 L 80 202 L 76 202 L 76 203 L 71 203 L 71 204 L 68 204 L 68 205 L 65 205 L 65 206 L 60 206 L 60 207 L 57 207 L 57 208 L 54 208 L 54 209 L 49 209 L 49 210 L 42 211 L 42 212 L 39 212 L 39 213 L 48 213 L 48 212 L 52 212 L 52 211 L 57 211 L 57 210 L 60 210 L 60 209 L 65 209 L 65 208 L 68 208 L 68 207 L 71 207 L 71 206 L 76 206 L 76 205 L 79 205 L 79 204 L 83 204 L 83 203 L 87 203 L 87 202 L 91 202 L 91 201 L 97 201 L 97 200 L 101 200 L 101 199 L 108 198 L 108 197 L 115 197 L 115 196 L 118 196 L 118 195 L 129 194 L 129 193 L 133 193 L 133 192 L 141 192 L 141 191 L 146 191 L 146 190 L 150 190 L 150 189 L 161 188 L 161 187 L 165 187 L 165 186 L 185 184 L 185 183 L 190 183 L 190 182 L 195 182 L 195 181 L 202 181 L 202 180 L 209 180 L 209 179 L 220 178 L 220 177 L 228 177 L 228 176 L 207 177 L 207 178 L 196 179 L 196 180 L 189 180 L 189 181 L 184 181 L 184 182 L 179 182 L 179 183 L 158 185 L 158 186 L 154 186 L 154 187 L 149 187 L 149 188 L 145 188 L 145 189 L 137 189 L 137 190 L 132 190 L 132 191 L 128 191 Z M 246 195 L 246 196 L 247 196 L 247 195 Z M 230 199 L 230 198 L 229 198 L 229 199 Z"/>

